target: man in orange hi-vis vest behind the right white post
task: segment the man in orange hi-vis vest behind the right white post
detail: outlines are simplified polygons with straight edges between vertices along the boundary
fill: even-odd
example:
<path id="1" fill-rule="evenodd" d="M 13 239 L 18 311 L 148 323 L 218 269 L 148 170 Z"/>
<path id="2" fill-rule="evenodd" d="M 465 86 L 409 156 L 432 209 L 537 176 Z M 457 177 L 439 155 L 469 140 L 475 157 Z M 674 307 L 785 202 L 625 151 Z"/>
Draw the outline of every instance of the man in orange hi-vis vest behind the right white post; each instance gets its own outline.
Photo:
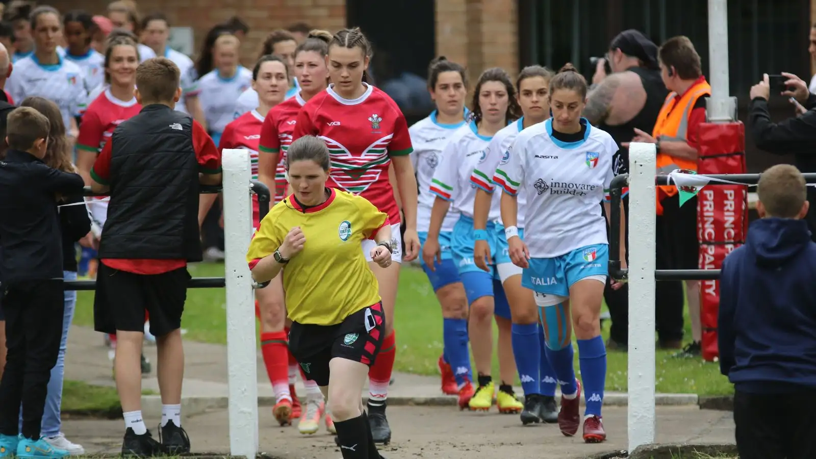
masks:
<path id="1" fill-rule="evenodd" d="M 669 38 L 660 47 L 658 58 L 663 83 L 671 92 L 660 109 L 652 134 L 635 130 L 637 136 L 632 141 L 657 145 L 659 174 L 675 169 L 697 171 L 697 133 L 700 123 L 706 122 L 705 98 L 711 96 L 711 87 L 703 76 L 700 56 L 689 38 Z M 697 198 L 691 198 L 681 207 L 674 185 L 659 186 L 657 193 L 657 269 L 696 270 L 699 252 Z M 682 283 L 662 281 L 658 286 L 656 321 L 659 345 L 680 348 L 683 339 Z M 685 354 L 699 354 L 703 336 L 700 283 L 686 281 L 685 289 L 694 340 L 687 346 Z"/>

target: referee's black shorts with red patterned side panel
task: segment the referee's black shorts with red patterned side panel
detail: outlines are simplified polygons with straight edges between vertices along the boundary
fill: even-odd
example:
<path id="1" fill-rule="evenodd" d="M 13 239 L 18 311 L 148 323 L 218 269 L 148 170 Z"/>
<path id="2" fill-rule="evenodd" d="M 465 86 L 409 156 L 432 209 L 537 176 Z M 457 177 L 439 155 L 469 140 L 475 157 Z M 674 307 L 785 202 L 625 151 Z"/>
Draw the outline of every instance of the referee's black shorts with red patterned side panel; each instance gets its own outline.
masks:
<path id="1" fill-rule="evenodd" d="M 336 325 L 292 322 L 289 351 L 306 377 L 317 385 L 329 385 L 329 361 L 335 357 L 374 364 L 383 344 L 383 303 L 358 310 Z"/>

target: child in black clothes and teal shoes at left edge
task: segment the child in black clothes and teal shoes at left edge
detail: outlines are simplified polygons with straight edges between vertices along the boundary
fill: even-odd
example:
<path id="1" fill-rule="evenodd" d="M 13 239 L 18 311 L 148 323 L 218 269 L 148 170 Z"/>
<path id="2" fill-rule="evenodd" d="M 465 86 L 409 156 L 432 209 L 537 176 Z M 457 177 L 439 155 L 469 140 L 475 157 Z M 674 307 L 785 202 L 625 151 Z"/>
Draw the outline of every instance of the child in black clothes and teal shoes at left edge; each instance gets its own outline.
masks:
<path id="1" fill-rule="evenodd" d="M 65 457 L 41 438 L 51 368 L 63 325 L 63 253 L 57 195 L 82 192 L 78 174 L 42 162 L 48 118 L 30 107 L 8 115 L 0 162 L 0 277 L 6 314 L 6 371 L 0 381 L 0 455 Z M 20 434 L 20 403 L 23 428 Z"/>

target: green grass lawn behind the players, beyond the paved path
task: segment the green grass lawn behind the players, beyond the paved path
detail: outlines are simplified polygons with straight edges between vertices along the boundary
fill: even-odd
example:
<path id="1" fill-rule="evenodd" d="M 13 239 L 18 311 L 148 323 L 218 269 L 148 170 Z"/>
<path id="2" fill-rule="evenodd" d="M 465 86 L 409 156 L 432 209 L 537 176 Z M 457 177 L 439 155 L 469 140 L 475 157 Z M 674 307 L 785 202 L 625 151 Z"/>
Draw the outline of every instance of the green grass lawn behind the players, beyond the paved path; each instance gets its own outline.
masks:
<path id="1" fill-rule="evenodd" d="M 199 263 L 190 265 L 193 277 L 223 276 L 224 265 Z M 442 351 L 442 315 L 437 297 L 422 270 L 406 267 L 400 275 L 397 295 L 397 363 L 396 370 L 424 375 L 437 374 L 437 359 Z M 223 289 L 188 290 L 184 306 L 182 328 L 187 329 L 185 339 L 225 344 L 227 331 L 224 325 L 226 310 Z M 686 336 L 691 336 L 686 320 Z M 90 326 L 93 323 L 93 292 L 79 292 L 74 323 Z M 604 339 L 609 335 L 608 322 L 603 330 Z M 494 338 L 496 334 L 494 333 Z M 656 356 L 658 392 L 692 393 L 700 395 L 732 394 L 733 386 L 721 376 L 717 363 L 702 359 L 673 359 L 674 351 L 659 350 Z M 494 374 L 499 374 L 494 359 Z M 606 390 L 627 390 L 627 354 L 607 354 Z M 578 357 L 575 370 L 579 371 Z"/>

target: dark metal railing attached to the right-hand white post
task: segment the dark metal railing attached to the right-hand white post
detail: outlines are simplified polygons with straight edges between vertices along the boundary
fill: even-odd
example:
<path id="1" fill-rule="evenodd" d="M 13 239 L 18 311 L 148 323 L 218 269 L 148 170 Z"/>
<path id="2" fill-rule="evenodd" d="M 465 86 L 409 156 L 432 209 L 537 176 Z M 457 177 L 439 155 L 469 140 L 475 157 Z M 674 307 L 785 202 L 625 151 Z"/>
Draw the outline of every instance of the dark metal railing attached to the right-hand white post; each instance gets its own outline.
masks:
<path id="1" fill-rule="evenodd" d="M 718 180 L 729 180 L 743 185 L 756 185 L 762 174 L 705 174 L 707 177 Z M 816 183 L 816 173 L 802 174 L 807 183 Z M 610 277 L 612 279 L 627 279 L 628 270 L 620 267 L 620 203 L 623 188 L 628 185 L 629 175 L 615 176 L 610 184 Z M 672 185 L 667 175 L 654 176 L 655 185 Z M 718 181 L 710 181 L 711 185 L 731 185 Z M 654 270 L 655 280 L 712 280 L 720 279 L 720 270 Z"/>

